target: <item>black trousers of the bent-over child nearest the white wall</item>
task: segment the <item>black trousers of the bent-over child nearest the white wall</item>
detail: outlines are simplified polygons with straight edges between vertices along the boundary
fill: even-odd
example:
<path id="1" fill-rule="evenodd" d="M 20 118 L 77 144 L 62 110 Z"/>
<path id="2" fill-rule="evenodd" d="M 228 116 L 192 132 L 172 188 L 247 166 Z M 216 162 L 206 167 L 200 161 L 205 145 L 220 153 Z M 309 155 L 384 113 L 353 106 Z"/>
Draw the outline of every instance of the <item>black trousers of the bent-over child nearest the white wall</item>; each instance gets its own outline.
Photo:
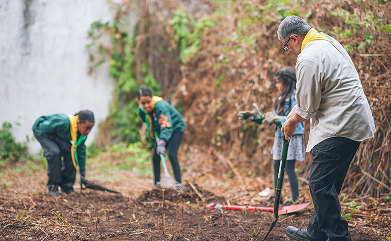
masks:
<path id="1" fill-rule="evenodd" d="M 65 146 L 54 142 L 47 138 L 45 135 L 33 131 L 34 136 L 41 144 L 44 150 L 44 156 L 48 161 L 47 175 L 48 188 L 56 191 L 58 187 L 61 187 L 61 191 L 69 193 L 73 191 L 73 184 L 76 179 L 76 168 L 72 163 L 71 149 L 67 150 Z M 64 142 L 59 140 L 59 142 Z M 71 143 L 69 143 L 70 145 Z"/>

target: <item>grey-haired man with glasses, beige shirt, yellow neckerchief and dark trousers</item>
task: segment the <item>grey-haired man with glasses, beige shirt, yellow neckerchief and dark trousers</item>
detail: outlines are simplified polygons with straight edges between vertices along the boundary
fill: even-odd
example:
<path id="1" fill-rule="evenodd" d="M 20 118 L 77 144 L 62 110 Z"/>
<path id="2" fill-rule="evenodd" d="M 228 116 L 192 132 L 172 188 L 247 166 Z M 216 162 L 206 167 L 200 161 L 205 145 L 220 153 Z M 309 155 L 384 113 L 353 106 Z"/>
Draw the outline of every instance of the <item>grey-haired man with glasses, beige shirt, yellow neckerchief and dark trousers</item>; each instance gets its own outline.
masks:
<path id="1" fill-rule="evenodd" d="M 284 50 L 298 55 L 297 105 L 281 130 L 288 140 L 299 122 L 310 119 L 306 152 L 313 157 L 309 189 L 315 210 L 306 229 L 289 226 L 285 233 L 296 240 L 351 240 L 338 194 L 360 143 L 376 131 L 359 74 L 335 39 L 298 16 L 282 20 L 277 36 Z"/>

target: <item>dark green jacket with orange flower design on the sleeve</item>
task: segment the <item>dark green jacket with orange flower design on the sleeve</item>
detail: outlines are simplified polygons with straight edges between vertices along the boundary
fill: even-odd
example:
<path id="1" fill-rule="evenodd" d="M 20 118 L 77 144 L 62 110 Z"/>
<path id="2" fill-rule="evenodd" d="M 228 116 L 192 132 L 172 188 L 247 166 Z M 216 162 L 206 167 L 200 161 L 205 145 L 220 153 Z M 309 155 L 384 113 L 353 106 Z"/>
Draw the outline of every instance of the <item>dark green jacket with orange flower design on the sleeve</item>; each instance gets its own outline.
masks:
<path id="1" fill-rule="evenodd" d="M 142 121 L 145 122 L 145 114 L 140 106 L 138 110 Z M 181 114 L 165 100 L 156 102 L 153 110 L 147 115 L 152 118 L 152 130 L 157 131 L 159 138 L 166 142 L 171 139 L 174 131 L 183 133 L 185 130 L 186 124 Z"/>

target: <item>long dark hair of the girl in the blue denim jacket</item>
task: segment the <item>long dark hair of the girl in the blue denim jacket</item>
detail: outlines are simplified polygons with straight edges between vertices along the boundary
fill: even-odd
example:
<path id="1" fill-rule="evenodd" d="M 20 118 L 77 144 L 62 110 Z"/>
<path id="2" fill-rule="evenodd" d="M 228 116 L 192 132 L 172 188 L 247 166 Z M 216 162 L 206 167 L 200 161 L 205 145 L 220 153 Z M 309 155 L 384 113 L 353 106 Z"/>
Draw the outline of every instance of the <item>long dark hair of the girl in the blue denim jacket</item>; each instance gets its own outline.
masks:
<path id="1" fill-rule="evenodd" d="M 289 112 L 292 107 L 290 96 L 296 90 L 295 70 L 289 66 L 281 68 L 281 70 L 277 71 L 274 79 L 281 82 L 284 85 L 284 89 L 274 101 L 273 109 L 277 112 L 277 115 L 287 115 L 288 113 L 284 113 L 285 99 L 289 99 L 289 109 L 287 110 Z"/>

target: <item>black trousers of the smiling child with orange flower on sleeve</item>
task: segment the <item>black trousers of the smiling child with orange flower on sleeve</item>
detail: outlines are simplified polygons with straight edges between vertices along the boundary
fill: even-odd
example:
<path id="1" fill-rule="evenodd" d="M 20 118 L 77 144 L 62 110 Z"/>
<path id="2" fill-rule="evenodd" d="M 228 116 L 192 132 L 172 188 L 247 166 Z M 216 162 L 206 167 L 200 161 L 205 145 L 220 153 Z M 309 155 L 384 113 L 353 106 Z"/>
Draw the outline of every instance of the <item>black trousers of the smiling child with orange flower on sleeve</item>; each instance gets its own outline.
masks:
<path id="1" fill-rule="evenodd" d="M 181 169 L 178 161 L 178 149 L 182 141 L 183 133 L 180 131 L 174 131 L 171 139 L 167 142 L 166 147 L 169 153 L 169 159 L 174 170 L 175 180 L 181 183 Z M 160 181 L 160 156 L 156 153 L 156 143 L 153 148 L 152 156 L 153 174 L 155 177 L 155 184 Z"/>

